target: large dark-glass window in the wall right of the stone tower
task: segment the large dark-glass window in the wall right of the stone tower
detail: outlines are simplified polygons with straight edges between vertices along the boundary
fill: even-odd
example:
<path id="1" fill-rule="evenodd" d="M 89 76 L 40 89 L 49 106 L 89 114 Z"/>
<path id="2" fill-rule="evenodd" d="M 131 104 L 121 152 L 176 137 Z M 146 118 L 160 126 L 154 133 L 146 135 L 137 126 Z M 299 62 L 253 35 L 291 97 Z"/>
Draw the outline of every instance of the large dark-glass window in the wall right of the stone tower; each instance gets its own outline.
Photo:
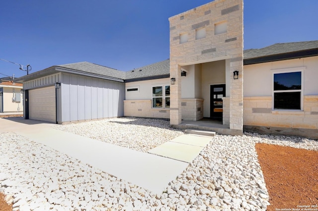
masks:
<path id="1" fill-rule="evenodd" d="M 273 108 L 302 110 L 303 71 L 273 73 Z"/>

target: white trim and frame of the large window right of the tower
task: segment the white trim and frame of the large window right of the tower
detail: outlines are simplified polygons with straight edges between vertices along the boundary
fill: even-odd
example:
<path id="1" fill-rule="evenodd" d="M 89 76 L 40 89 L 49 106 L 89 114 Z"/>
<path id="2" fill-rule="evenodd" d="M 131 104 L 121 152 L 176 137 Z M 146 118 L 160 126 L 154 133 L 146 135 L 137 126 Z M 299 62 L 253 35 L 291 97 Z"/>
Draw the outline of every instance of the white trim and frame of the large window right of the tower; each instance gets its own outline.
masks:
<path id="1" fill-rule="evenodd" d="M 292 68 L 283 68 L 283 69 L 271 69 L 272 81 L 271 81 L 271 89 L 272 89 L 272 110 L 273 111 L 304 111 L 304 70 L 305 66 L 302 67 L 292 67 Z M 301 86 L 300 90 L 277 90 L 274 91 L 274 75 L 280 73 L 292 73 L 292 72 L 301 72 Z M 274 94 L 282 93 L 282 92 L 300 92 L 300 109 L 275 109 L 274 108 Z"/>

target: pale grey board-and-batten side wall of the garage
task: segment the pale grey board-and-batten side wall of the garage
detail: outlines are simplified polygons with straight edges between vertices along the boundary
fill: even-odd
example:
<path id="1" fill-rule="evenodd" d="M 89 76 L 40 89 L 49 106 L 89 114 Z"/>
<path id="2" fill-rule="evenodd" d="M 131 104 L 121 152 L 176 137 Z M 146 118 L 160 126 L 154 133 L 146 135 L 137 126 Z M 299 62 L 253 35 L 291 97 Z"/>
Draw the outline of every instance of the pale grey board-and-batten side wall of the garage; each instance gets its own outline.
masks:
<path id="1" fill-rule="evenodd" d="M 62 73 L 62 122 L 124 115 L 125 84 Z"/>

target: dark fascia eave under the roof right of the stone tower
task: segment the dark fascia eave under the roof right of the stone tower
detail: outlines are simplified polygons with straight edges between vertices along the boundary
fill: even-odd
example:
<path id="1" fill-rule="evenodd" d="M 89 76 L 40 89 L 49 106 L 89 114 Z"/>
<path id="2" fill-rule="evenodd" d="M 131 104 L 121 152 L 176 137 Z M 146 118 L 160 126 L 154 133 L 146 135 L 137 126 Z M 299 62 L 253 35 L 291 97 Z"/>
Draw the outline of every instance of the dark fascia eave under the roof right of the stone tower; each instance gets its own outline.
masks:
<path id="1" fill-rule="evenodd" d="M 281 60 L 288 60 L 288 59 L 295 59 L 295 58 L 304 58 L 304 57 L 311 57 L 311 56 L 317 56 L 317 55 L 318 55 L 318 49 L 309 49 L 304 51 L 273 54 L 273 55 L 260 56 L 260 57 L 254 57 L 254 58 L 246 58 L 246 59 L 243 59 L 243 65 L 258 64 L 258 63 L 265 63 L 265 62 L 271 62 L 271 61 L 281 61 Z"/>

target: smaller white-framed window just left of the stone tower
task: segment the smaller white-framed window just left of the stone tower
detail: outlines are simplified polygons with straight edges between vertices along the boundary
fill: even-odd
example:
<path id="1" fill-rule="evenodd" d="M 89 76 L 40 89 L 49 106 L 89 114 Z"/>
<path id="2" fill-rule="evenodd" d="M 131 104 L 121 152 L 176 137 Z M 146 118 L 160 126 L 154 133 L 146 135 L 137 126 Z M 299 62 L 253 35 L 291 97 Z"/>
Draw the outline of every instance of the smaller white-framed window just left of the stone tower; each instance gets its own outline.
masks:
<path id="1" fill-rule="evenodd" d="M 170 107 L 170 86 L 153 87 L 153 107 L 168 108 Z"/>

